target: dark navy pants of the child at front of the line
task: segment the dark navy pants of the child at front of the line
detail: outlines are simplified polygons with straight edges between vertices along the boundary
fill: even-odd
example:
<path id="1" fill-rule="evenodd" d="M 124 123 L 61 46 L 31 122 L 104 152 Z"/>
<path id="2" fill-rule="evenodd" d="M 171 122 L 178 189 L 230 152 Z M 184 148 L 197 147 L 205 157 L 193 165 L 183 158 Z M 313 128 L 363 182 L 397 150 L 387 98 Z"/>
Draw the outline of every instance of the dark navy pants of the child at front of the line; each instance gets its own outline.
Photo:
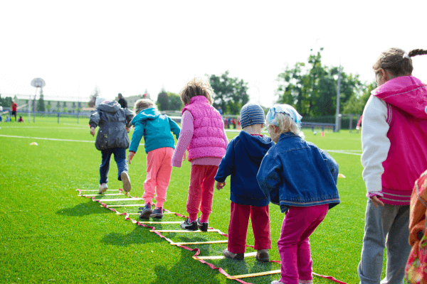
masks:
<path id="1" fill-rule="evenodd" d="M 117 163 L 118 178 L 122 180 L 120 174 L 123 172 L 127 173 L 127 160 L 126 160 L 126 149 L 125 148 L 110 148 L 102 150 L 102 162 L 100 165 L 100 185 L 108 182 L 108 171 L 110 170 L 110 159 L 111 154 L 114 154 L 114 160 Z"/>

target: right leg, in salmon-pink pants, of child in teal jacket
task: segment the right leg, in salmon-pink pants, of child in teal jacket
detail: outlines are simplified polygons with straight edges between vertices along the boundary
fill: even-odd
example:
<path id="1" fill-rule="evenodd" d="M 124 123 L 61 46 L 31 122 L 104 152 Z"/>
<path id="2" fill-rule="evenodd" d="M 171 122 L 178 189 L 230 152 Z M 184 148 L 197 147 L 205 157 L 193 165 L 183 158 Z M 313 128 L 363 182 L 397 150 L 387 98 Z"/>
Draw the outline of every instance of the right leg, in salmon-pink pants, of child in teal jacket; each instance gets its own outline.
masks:
<path id="1" fill-rule="evenodd" d="M 157 195 L 156 207 L 163 207 L 166 202 L 167 187 L 171 180 L 172 173 L 172 156 L 174 155 L 174 148 L 162 148 L 162 160 L 157 172 Z"/>

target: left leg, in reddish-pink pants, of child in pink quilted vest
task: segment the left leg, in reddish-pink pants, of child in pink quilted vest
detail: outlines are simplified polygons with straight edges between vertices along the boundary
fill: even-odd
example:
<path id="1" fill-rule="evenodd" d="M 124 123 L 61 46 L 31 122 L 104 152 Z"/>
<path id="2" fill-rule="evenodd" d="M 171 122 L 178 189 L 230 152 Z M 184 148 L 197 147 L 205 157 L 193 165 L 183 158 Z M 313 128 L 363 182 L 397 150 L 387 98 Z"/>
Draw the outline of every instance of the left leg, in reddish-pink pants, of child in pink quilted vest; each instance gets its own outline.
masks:
<path id="1" fill-rule="evenodd" d="M 191 165 L 189 195 L 186 202 L 186 212 L 189 213 L 189 221 L 197 219 L 201 201 L 201 183 L 204 179 L 205 165 Z"/>

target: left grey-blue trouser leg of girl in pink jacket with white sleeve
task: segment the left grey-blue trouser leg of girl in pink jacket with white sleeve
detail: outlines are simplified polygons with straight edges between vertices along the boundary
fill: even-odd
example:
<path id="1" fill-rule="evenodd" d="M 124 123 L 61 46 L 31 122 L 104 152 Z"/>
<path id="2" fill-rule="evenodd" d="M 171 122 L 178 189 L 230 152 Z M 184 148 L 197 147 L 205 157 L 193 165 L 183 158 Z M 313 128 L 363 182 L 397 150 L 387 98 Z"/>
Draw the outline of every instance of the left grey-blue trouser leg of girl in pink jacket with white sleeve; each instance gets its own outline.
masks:
<path id="1" fill-rule="evenodd" d="M 398 211 L 398 205 L 385 204 L 384 207 L 375 207 L 371 200 L 368 200 L 365 214 L 362 256 L 357 267 L 360 283 L 370 284 L 380 282 L 386 236 Z M 405 242 L 408 242 L 408 238 L 405 239 Z M 404 270 L 404 267 L 401 269 Z"/>

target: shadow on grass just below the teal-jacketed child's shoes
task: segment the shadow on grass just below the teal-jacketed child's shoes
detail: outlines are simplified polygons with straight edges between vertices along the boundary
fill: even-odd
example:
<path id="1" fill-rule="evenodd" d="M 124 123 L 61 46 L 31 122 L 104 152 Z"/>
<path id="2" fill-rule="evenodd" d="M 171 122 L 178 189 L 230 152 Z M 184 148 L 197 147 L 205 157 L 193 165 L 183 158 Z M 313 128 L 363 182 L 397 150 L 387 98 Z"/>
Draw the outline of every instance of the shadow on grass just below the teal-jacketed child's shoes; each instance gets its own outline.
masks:
<path id="1" fill-rule="evenodd" d="M 162 229 L 161 226 L 156 229 Z M 150 228 L 135 224 L 135 229 L 130 234 L 110 233 L 105 235 L 101 242 L 112 246 L 129 246 L 131 244 L 159 243 L 164 241 L 156 234 L 149 231 Z"/>

